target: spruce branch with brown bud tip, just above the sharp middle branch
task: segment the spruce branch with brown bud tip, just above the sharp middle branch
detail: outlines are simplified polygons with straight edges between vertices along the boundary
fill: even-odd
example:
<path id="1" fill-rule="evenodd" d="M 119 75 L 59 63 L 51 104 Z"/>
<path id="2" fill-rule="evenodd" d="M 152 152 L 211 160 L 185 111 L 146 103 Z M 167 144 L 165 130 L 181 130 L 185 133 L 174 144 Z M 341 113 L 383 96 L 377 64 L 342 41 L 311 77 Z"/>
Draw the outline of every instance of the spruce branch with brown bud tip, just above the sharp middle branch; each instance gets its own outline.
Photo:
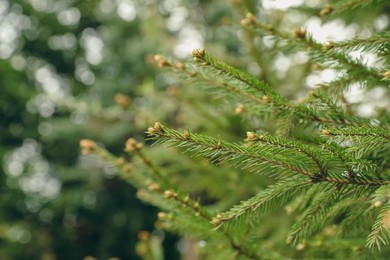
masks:
<path id="1" fill-rule="evenodd" d="M 259 81 L 249 74 L 241 72 L 209 55 L 204 49 L 193 51 L 194 64 L 185 66 L 156 55 L 155 60 L 159 66 L 169 67 L 178 73 L 184 73 L 195 79 L 196 84 L 202 84 L 207 88 L 222 91 L 222 95 L 245 103 L 243 109 L 246 112 L 259 115 L 270 115 L 272 112 L 280 117 L 288 113 L 290 119 L 307 122 L 319 122 L 322 124 L 347 124 L 357 125 L 365 122 L 358 117 L 347 114 L 335 114 L 332 111 L 308 107 L 306 104 L 296 104 L 280 96 L 272 87 Z M 194 72 L 195 70 L 195 72 Z M 219 79 L 222 79 L 219 80 Z"/>

